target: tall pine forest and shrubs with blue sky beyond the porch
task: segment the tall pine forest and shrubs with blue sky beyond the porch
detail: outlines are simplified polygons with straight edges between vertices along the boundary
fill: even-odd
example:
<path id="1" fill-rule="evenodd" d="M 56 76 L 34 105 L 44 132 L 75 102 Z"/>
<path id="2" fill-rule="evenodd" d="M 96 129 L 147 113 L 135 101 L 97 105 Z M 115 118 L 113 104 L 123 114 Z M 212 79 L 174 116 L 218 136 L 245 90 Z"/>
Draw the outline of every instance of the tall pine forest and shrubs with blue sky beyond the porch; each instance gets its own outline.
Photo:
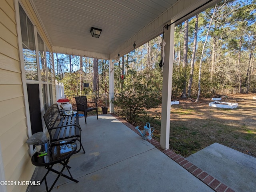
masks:
<path id="1" fill-rule="evenodd" d="M 255 10 L 256 0 L 223 0 L 175 27 L 172 98 L 256 92 Z M 161 102 L 161 42 L 162 35 L 114 66 L 115 102 L 130 108 L 126 119 Z M 108 94 L 108 60 L 54 54 L 54 66 L 66 95 Z"/>

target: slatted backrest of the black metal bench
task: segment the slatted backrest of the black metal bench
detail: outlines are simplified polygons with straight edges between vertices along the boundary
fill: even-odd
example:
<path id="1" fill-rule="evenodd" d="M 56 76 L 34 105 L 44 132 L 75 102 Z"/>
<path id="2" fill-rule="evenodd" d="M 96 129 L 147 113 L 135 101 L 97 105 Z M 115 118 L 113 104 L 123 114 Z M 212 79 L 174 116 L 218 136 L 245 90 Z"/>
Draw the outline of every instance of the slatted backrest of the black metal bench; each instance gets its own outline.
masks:
<path id="1" fill-rule="evenodd" d="M 44 114 L 44 122 L 49 130 L 54 126 L 60 115 L 58 104 L 52 104 Z"/>

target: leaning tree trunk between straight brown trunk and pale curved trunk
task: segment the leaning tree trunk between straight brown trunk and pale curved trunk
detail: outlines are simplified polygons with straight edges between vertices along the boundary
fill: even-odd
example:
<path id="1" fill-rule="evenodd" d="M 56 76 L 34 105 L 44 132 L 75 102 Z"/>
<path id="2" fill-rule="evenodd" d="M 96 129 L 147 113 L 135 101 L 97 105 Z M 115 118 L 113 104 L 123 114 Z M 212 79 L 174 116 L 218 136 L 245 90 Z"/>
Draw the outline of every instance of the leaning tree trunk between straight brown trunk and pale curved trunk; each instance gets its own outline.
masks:
<path id="1" fill-rule="evenodd" d="M 190 78 L 188 82 L 188 97 L 191 97 L 191 87 L 193 82 L 194 64 L 195 64 L 195 57 L 196 57 L 197 31 L 198 31 L 198 14 L 196 15 L 196 21 L 195 21 L 194 44 L 193 44 L 191 66 L 190 66 Z"/>

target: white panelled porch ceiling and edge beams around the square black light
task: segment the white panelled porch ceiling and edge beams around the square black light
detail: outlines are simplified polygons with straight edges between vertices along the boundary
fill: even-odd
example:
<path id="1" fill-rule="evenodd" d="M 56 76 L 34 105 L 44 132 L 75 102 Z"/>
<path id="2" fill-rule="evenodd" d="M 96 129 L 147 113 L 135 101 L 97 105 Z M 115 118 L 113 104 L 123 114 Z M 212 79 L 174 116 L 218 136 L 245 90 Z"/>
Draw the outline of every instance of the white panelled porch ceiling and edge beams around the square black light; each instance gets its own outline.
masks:
<path id="1" fill-rule="evenodd" d="M 138 47 L 160 35 L 167 22 L 182 22 L 220 0 L 30 1 L 54 52 L 114 59 L 133 50 L 134 41 Z M 100 38 L 91 27 L 102 29 Z"/>

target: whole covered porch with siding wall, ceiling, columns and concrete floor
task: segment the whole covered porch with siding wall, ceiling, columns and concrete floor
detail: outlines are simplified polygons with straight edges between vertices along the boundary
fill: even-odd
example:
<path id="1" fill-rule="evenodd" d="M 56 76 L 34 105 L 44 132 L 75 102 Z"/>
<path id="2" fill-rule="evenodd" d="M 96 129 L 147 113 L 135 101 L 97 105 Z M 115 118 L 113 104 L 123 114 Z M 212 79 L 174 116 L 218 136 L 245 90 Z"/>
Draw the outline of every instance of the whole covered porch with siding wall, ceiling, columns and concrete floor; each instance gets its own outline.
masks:
<path id="1" fill-rule="evenodd" d="M 110 114 L 100 116 L 98 121 L 89 117 L 86 126 L 81 118 L 86 154 L 78 153 L 70 159 L 71 172 L 80 182 L 76 184 L 60 178 L 59 187 L 54 190 L 70 191 L 70 188 L 76 190 L 80 187 L 77 191 L 90 191 L 92 188 L 92 191 L 138 191 L 142 188 L 145 191 L 211 191 L 206 181 L 200 179 L 201 173 L 196 174 L 199 169 L 194 169 L 195 166 L 168 148 L 174 26 L 217 2 L 220 0 L 1 1 L 0 105 L 4 109 L 0 114 L 1 180 L 29 181 L 34 172 L 31 156 L 35 150 L 26 144 L 26 140 L 32 135 L 33 128 L 39 126 L 33 124 L 35 118 L 30 114 L 37 114 L 38 120 L 34 122 L 39 122 L 42 130 L 47 132 L 43 115 L 45 109 L 56 102 L 54 52 L 109 60 L 111 101 L 114 97 L 114 62 L 159 36 L 163 27 L 168 26 L 168 29 L 164 28 L 161 144 L 142 140 L 128 128 L 134 127 L 122 124 Z M 91 27 L 102 29 L 100 38 L 91 36 Z M 26 35 L 22 36 L 22 30 Z M 26 76 L 28 70 L 24 64 L 23 49 L 33 52 L 36 80 Z M 43 59 L 48 64 L 44 66 L 48 75 L 42 73 L 44 80 L 41 78 L 43 68 L 39 50 L 46 53 Z M 30 103 L 29 98 L 35 98 L 36 105 Z M 36 113 L 30 106 L 36 106 Z M 110 111 L 114 111 L 112 103 Z M 40 180 L 40 171 L 33 175 L 32 180 Z M 213 179 L 207 183 L 215 184 Z M 2 191 L 8 192 L 25 191 L 25 188 L 27 186 L 0 186 Z M 42 184 L 29 186 L 28 190 L 45 191 L 45 188 Z"/>

